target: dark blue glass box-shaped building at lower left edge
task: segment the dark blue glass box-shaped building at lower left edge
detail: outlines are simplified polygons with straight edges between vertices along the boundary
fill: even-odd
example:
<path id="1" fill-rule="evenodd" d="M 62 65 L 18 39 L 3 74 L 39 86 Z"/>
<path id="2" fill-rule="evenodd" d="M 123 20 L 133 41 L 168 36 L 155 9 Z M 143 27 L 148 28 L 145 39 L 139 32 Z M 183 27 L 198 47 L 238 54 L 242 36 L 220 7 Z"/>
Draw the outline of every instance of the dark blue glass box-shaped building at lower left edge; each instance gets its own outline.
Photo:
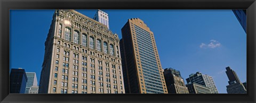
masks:
<path id="1" fill-rule="evenodd" d="M 28 78 L 22 68 L 12 68 L 10 73 L 10 93 L 25 93 Z"/>

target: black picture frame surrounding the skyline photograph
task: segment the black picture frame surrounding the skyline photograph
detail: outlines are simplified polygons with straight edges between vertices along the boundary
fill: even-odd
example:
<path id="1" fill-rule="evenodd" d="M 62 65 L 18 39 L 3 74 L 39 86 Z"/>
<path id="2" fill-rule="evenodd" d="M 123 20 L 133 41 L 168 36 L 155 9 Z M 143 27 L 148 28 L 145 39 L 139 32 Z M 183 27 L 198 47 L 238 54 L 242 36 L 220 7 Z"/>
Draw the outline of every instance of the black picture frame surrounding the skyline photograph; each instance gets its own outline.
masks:
<path id="1" fill-rule="evenodd" d="M 0 102 L 256 102 L 255 0 L 0 0 Z M 9 94 L 10 9 L 247 9 L 247 94 Z"/>

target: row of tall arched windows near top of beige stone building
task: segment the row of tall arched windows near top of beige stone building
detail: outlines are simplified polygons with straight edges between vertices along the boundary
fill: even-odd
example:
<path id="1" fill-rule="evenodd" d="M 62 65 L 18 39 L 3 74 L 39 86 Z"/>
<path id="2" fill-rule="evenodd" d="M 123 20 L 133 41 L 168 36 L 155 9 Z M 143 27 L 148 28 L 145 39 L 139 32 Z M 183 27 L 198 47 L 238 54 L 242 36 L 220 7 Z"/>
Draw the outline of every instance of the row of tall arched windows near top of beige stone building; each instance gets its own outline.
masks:
<path id="1" fill-rule="evenodd" d="M 61 37 L 61 33 L 62 33 L 62 24 L 59 24 L 59 34 L 58 37 Z M 67 41 L 71 41 L 71 29 L 69 27 L 65 27 L 65 33 L 64 33 L 64 39 Z M 74 31 L 74 36 L 73 36 L 73 42 L 75 44 L 79 44 L 79 31 L 75 30 Z M 81 42 L 82 46 L 87 47 L 87 35 L 85 33 L 82 33 L 82 42 Z M 95 40 L 94 37 L 89 38 L 89 47 L 91 49 L 96 49 L 98 51 L 102 51 L 102 42 L 100 39 L 96 40 L 96 48 L 94 47 L 95 45 Z M 109 51 L 108 51 L 109 50 Z M 116 46 L 116 51 L 117 51 L 117 56 L 119 57 L 119 50 L 118 50 L 118 46 Z M 108 49 L 108 43 L 106 41 L 103 42 L 103 52 L 106 54 L 110 55 L 115 55 L 115 50 L 114 50 L 114 45 L 110 44 L 109 45 L 109 49 Z"/>

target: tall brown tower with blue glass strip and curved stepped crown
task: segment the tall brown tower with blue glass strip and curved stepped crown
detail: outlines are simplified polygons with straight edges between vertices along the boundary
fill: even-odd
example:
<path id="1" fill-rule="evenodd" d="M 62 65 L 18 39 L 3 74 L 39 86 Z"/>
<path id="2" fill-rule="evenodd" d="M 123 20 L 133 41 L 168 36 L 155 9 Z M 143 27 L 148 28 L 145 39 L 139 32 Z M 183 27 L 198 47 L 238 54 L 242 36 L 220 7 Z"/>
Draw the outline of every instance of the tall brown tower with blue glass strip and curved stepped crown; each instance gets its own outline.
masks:
<path id="1" fill-rule="evenodd" d="M 153 32 L 138 18 L 122 28 L 120 48 L 126 93 L 167 93 Z"/>

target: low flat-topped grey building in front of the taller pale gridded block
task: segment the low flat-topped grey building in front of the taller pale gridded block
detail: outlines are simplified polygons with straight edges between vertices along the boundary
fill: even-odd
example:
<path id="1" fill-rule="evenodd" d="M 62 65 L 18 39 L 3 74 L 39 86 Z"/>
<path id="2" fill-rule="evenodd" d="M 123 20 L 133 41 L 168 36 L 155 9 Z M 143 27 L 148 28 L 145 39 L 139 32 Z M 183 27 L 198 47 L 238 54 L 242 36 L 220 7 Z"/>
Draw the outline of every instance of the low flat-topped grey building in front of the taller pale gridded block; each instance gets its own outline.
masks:
<path id="1" fill-rule="evenodd" d="M 189 93 L 211 93 L 211 89 L 197 83 L 186 84 Z"/>

